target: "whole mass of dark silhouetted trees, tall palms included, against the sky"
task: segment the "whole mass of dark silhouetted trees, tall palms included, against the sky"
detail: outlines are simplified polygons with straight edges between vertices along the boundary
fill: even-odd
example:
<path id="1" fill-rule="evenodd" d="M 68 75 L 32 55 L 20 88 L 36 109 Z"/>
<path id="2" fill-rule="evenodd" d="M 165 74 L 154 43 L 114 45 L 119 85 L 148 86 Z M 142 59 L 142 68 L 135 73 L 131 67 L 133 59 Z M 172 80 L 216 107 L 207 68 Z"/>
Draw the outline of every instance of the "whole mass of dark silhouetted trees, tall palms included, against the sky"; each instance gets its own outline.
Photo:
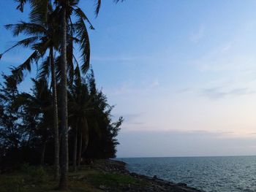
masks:
<path id="1" fill-rule="evenodd" d="M 31 55 L 11 73 L 2 74 L 0 170 L 11 172 L 24 164 L 54 166 L 59 189 L 67 190 L 68 170 L 76 172 L 81 161 L 115 157 L 123 118 L 112 119 L 113 106 L 96 87 L 88 34 L 94 27 L 79 1 L 16 1 L 21 12 L 26 4 L 30 6 L 29 21 L 5 27 L 14 37 L 25 39 L 0 58 L 16 47 L 30 48 Z M 97 0 L 96 15 L 100 7 Z M 20 91 L 24 72 L 34 66 L 37 74 L 31 79 L 31 91 Z M 44 172 L 35 170 L 35 174 Z"/>

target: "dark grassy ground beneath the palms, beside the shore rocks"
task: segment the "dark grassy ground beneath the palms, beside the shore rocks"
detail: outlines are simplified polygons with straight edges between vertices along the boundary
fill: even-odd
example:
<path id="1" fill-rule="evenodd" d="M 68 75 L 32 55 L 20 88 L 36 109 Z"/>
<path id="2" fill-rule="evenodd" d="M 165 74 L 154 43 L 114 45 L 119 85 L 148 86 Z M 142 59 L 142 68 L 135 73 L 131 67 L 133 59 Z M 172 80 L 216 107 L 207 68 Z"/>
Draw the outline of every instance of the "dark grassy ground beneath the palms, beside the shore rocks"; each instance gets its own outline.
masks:
<path id="1" fill-rule="evenodd" d="M 20 171 L 0 174 L 0 192 L 57 192 L 59 183 L 53 180 L 49 167 L 24 165 Z M 69 172 L 69 190 L 67 192 L 102 192 L 100 185 L 118 188 L 124 185 L 146 185 L 126 174 L 102 172 L 86 166 L 78 172 Z"/>

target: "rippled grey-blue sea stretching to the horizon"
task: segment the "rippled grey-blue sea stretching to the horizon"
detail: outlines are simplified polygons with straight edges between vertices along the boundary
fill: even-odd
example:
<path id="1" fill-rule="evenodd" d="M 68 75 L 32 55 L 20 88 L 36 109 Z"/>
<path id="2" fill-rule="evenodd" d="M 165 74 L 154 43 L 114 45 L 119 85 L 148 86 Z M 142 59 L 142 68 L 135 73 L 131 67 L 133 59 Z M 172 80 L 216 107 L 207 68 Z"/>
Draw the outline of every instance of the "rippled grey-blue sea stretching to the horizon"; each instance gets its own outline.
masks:
<path id="1" fill-rule="evenodd" d="M 118 158 L 130 172 L 157 177 L 203 191 L 256 191 L 256 156 Z"/>

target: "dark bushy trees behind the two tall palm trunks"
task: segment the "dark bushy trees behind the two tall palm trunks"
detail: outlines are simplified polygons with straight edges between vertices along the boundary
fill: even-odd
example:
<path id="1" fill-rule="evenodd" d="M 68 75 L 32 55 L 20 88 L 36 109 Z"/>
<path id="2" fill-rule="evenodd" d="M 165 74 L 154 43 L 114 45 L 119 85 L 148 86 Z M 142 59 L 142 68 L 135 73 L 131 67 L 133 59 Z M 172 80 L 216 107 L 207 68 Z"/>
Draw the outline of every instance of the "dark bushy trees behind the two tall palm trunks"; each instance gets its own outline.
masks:
<path id="1" fill-rule="evenodd" d="M 32 79 L 29 93 L 18 91 L 17 81 L 2 74 L 0 89 L 0 165 L 1 170 L 15 169 L 23 163 L 53 164 L 54 128 L 53 93 L 45 78 Z M 59 85 L 57 85 L 59 94 Z M 116 136 L 123 121 L 113 123 L 102 91 L 97 90 L 94 72 L 80 77 L 77 66 L 68 85 L 69 164 L 91 158 L 113 158 Z M 59 123 L 60 124 L 60 123 Z M 59 130 L 61 137 L 61 129 Z M 61 139 L 59 139 L 61 140 Z M 61 143 L 60 143 L 61 145 Z M 74 164 L 74 161 L 76 164 Z"/>

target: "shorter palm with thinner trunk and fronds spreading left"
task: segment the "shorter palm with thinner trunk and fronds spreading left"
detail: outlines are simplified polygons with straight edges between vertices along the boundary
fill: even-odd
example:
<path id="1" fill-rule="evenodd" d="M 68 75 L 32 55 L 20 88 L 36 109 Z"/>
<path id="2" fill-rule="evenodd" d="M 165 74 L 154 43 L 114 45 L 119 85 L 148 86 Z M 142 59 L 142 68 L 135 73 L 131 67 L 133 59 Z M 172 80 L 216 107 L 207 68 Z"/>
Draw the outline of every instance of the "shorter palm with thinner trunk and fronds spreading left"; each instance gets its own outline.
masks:
<path id="1" fill-rule="evenodd" d="M 48 51 L 48 58 L 42 63 L 41 72 L 39 78 L 44 78 L 48 74 L 48 68 L 50 68 L 51 85 L 53 91 L 53 128 L 55 133 L 54 149 L 55 149 L 55 177 L 59 178 L 59 118 L 58 118 L 58 103 L 57 103 L 57 91 L 56 91 L 56 69 L 54 61 L 54 51 L 59 50 L 59 25 L 58 20 L 55 17 L 50 4 L 48 5 L 47 22 L 42 18 L 38 20 L 32 20 L 31 23 L 20 22 L 18 24 L 9 24 L 5 27 L 12 29 L 14 36 L 18 36 L 20 33 L 29 34 L 31 37 L 23 39 L 12 46 L 7 51 L 17 46 L 31 47 L 34 52 L 29 58 L 20 66 L 12 69 L 12 74 L 16 77 L 18 82 L 23 80 L 23 71 L 31 71 L 31 64 L 37 63 L 39 58 L 42 58 Z M 4 53 L 7 53 L 5 51 Z M 3 55 L 3 54 L 1 54 Z"/>

